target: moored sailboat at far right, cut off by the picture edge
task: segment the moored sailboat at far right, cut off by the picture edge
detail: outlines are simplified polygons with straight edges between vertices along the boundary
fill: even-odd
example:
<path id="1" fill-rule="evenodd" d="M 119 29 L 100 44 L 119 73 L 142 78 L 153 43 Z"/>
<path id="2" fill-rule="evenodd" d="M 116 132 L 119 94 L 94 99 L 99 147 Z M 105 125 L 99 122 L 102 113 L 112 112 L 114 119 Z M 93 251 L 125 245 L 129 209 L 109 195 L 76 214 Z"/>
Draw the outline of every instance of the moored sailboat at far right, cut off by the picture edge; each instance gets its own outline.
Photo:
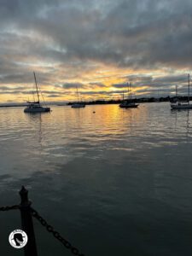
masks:
<path id="1" fill-rule="evenodd" d="M 177 94 L 177 93 L 176 93 Z M 176 100 L 175 102 L 171 102 L 172 109 L 189 109 L 192 108 L 192 104 L 190 104 L 190 75 L 188 74 L 188 99 L 186 101 Z"/>

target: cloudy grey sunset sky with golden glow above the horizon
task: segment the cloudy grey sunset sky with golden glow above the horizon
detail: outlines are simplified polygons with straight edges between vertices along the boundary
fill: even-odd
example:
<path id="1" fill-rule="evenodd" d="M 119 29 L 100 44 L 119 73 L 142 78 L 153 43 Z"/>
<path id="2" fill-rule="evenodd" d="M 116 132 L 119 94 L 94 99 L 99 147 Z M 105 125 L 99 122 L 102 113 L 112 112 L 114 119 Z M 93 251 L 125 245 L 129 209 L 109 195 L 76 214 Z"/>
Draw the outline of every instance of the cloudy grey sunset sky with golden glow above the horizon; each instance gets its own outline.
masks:
<path id="1" fill-rule="evenodd" d="M 0 0 L 0 102 L 187 94 L 191 0 Z M 191 73 L 192 74 L 192 73 Z"/>

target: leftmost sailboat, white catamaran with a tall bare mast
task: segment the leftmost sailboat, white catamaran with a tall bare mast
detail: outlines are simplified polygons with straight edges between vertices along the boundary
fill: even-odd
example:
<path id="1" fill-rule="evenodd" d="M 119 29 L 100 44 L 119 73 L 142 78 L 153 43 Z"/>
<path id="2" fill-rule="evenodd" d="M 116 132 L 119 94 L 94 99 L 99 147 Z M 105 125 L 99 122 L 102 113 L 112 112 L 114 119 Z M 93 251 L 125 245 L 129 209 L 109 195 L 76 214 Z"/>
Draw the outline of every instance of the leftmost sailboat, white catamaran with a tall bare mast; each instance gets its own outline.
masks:
<path id="1" fill-rule="evenodd" d="M 24 109 L 24 112 L 25 113 L 44 113 L 44 112 L 50 112 L 50 108 L 43 107 L 41 105 L 41 103 L 40 103 L 37 79 L 36 79 L 36 76 L 35 76 L 34 72 L 33 72 L 33 74 L 34 74 L 34 79 L 35 79 L 36 93 L 37 93 L 37 96 L 38 96 L 38 101 L 37 102 L 35 102 L 35 101 L 34 102 L 27 102 L 28 106 Z"/>

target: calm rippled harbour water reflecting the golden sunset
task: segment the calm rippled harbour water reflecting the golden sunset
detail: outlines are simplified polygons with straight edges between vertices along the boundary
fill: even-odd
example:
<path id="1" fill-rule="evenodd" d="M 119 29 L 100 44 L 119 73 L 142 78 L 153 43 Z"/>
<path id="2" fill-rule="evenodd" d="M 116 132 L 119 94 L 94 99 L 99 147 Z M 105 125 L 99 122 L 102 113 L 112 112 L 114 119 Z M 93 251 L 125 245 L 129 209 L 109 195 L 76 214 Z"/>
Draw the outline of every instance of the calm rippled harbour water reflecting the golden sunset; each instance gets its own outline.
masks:
<path id="1" fill-rule="evenodd" d="M 192 254 L 192 111 L 0 108 L 0 205 L 33 207 L 89 256 Z M 93 113 L 96 111 L 96 113 Z M 34 220 L 39 256 L 72 255 Z M 20 212 L 0 212 L 3 255 Z M 2 252 L 1 251 L 1 252 Z"/>

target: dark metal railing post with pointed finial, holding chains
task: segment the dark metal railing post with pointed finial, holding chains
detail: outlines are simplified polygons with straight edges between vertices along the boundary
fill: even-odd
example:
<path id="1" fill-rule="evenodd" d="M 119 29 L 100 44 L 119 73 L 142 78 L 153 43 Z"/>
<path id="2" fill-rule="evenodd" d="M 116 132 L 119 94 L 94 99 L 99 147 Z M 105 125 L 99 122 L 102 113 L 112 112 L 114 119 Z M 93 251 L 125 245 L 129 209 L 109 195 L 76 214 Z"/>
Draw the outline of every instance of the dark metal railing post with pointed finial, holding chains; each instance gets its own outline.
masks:
<path id="1" fill-rule="evenodd" d="M 20 199 L 22 230 L 24 230 L 28 236 L 28 241 L 24 247 L 25 256 L 38 256 L 30 209 L 32 202 L 28 200 L 28 190 L 24 186 L 20 189 Z"/>

